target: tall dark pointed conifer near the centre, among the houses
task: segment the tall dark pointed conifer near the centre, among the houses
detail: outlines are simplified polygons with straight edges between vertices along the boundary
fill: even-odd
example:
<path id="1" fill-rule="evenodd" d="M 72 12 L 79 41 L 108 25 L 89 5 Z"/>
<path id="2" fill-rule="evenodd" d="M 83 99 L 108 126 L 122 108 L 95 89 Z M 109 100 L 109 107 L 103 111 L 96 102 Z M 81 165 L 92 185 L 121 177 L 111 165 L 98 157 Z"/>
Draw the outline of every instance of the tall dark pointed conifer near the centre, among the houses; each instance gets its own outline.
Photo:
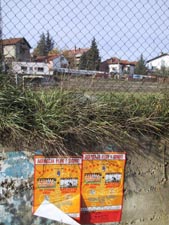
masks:
<path id="1" fill-rule="evenodd" d="M 95 38 L 93 38 L 89 51 L 80 58 L 79 69 L 99 70 L 100 67 L 99 50 Z"/>

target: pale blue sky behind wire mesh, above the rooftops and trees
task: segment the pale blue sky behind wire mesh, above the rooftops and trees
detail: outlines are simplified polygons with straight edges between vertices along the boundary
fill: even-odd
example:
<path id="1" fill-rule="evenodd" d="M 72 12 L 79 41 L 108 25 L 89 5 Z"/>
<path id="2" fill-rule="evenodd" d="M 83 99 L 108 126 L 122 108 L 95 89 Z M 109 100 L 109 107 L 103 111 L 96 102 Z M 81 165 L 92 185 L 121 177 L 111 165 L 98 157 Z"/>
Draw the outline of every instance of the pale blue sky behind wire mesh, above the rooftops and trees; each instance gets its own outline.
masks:
<path id="1" fill-rule="evenodd" d="M 102 61 L 169 53 L 169 0 L 1 0 L 3 39 L 24 37 L 32 50 L 49 31 L 60 50 L 96 43 Z"/>

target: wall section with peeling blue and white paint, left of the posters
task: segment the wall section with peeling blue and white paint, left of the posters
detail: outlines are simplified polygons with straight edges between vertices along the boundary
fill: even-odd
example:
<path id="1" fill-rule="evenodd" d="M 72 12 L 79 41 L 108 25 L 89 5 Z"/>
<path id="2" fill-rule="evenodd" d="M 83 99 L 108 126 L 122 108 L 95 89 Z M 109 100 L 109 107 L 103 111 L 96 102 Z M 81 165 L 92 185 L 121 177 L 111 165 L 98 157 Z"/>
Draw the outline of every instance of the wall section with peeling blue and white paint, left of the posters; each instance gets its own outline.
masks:
<path id="1" fill-rule="evenodd" d="M 39 225 L 52 221 L 32 215 L 34 162 L 25 151 L 0 153 L 0 224 Z"/>

